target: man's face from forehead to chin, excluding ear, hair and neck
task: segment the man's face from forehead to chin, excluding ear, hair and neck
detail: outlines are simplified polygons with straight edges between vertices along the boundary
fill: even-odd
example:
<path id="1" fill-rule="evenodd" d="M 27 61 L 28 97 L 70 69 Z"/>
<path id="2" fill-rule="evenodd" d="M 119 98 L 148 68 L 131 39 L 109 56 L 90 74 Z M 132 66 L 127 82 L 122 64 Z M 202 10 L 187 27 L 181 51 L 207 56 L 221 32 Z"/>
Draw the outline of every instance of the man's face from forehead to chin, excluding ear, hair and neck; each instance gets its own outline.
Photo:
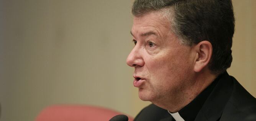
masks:
<path id="1" fill-rule="evenodd" d="M 139 98 L 153 103 L 175 100 L 191 83 L 192 47 L 179 43 L 159 12 L 135 17 L 131 34 L 135 46 L 126 63 L 135 67 L 133 84 Z"/>

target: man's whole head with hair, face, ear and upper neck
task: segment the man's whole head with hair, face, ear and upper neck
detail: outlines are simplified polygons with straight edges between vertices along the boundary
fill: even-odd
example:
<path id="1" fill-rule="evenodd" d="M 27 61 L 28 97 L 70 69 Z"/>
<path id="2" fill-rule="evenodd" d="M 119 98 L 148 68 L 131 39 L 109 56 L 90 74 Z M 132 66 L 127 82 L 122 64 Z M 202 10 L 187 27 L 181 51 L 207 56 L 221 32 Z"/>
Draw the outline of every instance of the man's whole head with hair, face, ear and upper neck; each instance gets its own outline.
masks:
<path id="1" fill-rule="evenodd" d="M 135 67 L 141 100 L 178 110 L 175 105 L 189 103 L 214 79 L 202 75 L 230 67 L 230 1 L 135 0 L 132 13 L 135 47 L 126 62 Z"/>

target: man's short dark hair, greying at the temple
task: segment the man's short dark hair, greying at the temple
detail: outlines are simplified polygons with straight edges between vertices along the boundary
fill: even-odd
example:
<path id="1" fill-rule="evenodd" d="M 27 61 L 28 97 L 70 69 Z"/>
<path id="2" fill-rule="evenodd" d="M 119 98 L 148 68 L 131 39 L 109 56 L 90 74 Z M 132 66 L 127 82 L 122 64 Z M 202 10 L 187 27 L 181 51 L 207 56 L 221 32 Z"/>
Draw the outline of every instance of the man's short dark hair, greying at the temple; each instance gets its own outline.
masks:
<path id="1" fill-rule="evenodd" d="M 235 19 L 231 0 L 135 0 L 132 8 L 139 17 L 160 11 L 171 30 L 185 45 L 209 41 L 213 46 L 209 69 L 222 73 L 232 62 L 231 46 Z"/>

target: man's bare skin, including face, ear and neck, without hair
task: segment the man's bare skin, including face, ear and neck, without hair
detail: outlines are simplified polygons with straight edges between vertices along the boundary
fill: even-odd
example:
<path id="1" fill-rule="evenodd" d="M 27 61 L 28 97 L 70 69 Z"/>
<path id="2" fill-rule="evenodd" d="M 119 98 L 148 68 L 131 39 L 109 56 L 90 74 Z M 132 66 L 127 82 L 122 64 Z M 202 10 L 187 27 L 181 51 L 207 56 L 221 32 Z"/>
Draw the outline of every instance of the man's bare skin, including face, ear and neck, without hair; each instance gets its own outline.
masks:
<path id="1" fill-rule="evenodd" d="M 135 68 L 133 77 L 141 78 L 141 100 L 175 113 L 216 78 L 207 67 L 212 45 L 182 45 L 160 12 L 134 17 L 131 34 L 135 46 L 126 63 Z"/>

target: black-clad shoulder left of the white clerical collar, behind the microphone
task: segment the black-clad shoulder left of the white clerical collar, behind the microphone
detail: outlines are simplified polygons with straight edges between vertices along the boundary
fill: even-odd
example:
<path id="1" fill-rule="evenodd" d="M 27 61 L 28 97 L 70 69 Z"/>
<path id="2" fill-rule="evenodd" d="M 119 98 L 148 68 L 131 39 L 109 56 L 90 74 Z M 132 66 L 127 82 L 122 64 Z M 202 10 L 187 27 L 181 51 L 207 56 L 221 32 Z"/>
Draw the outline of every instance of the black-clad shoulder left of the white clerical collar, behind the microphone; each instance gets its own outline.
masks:
<path id="1" fill-rule="evenodd" d="M 167 110 L 162 109 L 154 104 L 146 106 L 135 117 L 134 121 L 160 121 L 161 119 L 171 119 Z"/>

